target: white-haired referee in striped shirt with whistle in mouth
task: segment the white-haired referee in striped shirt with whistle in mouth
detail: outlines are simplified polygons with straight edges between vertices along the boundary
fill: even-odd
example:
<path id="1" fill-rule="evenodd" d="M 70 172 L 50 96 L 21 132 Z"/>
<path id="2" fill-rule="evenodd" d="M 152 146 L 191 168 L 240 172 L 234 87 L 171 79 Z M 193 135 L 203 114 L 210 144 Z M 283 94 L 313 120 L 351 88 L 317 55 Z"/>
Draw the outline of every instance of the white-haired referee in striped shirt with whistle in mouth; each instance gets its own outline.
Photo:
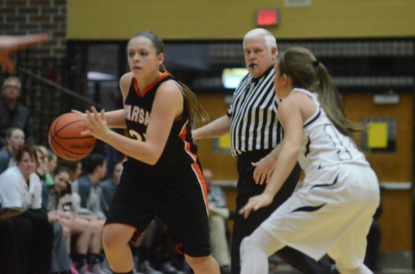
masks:
<path id="1" fill-rule="evenodd" d="M 238 158 L 237 208 L 264 191 L 275 167 L 277 145 L 282 141 L 282 127 L 277 117 L 277 97 L 274 89 L 274 61 L 277 41 L 268 30 L 257 28 L 243 37 L 243 50 L 248 75 L 237 86 L 226 115 L 201 128 L 192 130 L 193 139 L 214 138 L 230 133 L 232 155 Z M 291 196 L 300 174 L 297 165 L 274 201 L 266 208 L 252 211 L 248 219 L 235 215 L 232 231 L 231 268 L 239 274 L 239 246 L 244 237 Z M 302 273 L 338 273 L 335 266 L 315 262 L 311 257 L 286 246 L 277 255 Z"/>

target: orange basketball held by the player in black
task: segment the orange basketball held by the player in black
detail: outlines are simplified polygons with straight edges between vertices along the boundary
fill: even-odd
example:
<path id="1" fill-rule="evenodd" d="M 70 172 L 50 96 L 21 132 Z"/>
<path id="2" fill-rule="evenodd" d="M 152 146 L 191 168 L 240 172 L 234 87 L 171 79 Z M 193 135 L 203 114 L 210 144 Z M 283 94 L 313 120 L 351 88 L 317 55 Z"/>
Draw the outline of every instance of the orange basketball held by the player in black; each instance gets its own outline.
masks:
<path id="1" fill-rule="evenodd" d="M 89 155 L 96 139 L 91 135 L 81 135 L 87 130 L 86 117 L 80 113 L 68 112 L 53 121 L 48 132 L 49 146 L 60 158 L 76 161 Z"/>

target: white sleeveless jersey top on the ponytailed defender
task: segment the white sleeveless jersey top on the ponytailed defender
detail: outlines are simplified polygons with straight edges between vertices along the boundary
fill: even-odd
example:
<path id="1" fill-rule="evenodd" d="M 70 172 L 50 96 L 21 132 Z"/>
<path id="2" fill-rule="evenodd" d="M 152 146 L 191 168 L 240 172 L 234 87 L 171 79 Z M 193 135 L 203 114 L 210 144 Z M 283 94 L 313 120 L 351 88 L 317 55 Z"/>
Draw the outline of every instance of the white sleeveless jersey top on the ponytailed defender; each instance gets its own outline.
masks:
<path id="1" fill-rule="evenodd" d="M 306 175 L 338 164 L 369 166 L 365 155 L 358 150 L 353 140 L 340 133 L 329 120 L 316 93 L 302 88 L 295 88 L 292 92 L 308 95 L 317 105 L 315 113 L 303 125 L 303 142 L 298 162 Z"/>

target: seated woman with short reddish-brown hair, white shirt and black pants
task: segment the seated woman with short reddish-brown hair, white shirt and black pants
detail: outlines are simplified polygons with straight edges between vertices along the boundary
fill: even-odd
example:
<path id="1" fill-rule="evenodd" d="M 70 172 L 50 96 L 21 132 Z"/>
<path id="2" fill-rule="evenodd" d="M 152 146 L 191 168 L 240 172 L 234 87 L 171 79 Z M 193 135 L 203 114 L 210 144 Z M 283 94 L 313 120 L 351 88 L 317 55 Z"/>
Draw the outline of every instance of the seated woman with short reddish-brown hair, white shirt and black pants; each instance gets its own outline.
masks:
<path id="1" fill-rule="evenodd" d="M 20 251 L 19 264 L 26 266 L 26 273 L 45 274 L 50 272 L 53 226 L 42 208 L 42 184 L 36 168 L 36 149 L 25 144 L 17 151 L 16 166 L 0 175 L 0 199 L 3 208 L 22 209 L 21 217 L 30 221 L 30 243 Z"/>

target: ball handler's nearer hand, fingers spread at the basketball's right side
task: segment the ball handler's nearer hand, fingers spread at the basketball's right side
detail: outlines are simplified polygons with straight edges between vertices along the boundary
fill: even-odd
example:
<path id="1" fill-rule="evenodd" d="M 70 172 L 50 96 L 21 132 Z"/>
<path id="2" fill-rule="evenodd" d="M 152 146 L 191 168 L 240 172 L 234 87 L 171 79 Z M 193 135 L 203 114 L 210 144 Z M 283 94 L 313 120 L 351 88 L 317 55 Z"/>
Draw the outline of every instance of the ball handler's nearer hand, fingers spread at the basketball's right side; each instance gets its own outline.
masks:
<path id="1" fill-rule="evenodd" d="M 110 129 L 107 126 L 104 110 L 101 110 L 98 113 L 97 109 L 92 106 L 91 111 L 86 110 L 85 114 L 88 119 L 89 130 L 83 131 L 82 135 L 92 135 L 97 139 L 105 141 L 109 135 Z"/>

